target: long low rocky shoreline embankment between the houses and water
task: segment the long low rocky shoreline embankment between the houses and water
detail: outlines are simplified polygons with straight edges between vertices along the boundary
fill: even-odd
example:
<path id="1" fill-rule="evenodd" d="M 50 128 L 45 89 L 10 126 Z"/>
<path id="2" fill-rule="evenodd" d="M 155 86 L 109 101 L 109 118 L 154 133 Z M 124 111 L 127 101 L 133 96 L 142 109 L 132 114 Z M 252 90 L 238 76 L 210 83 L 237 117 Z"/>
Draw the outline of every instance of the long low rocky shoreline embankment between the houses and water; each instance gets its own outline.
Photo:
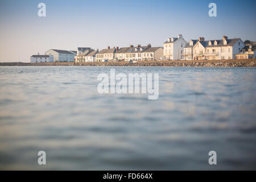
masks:
<path id="1" fill-rule="evenodd" d="M 174 60 L 174 61 L 127 61 L 88 63 L 0 63 L 0 66 L 85 66 L 85 67 L 256 67 L 256 59 L 244 60 Z"/>

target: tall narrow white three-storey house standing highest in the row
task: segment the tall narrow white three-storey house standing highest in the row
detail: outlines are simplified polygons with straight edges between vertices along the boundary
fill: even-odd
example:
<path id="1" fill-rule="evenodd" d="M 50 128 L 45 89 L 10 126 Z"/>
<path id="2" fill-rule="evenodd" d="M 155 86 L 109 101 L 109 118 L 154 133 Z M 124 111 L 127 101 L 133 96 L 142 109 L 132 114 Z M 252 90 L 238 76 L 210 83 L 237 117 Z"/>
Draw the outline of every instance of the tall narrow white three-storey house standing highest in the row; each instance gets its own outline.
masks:
<path id="1" fill-rule="evenodd" d="M 183 49 L 186 44 L 181 34 L 177 38 L 168 38 L 164 42 L 164 58 L 167 60 L 183 59 Z"/>

